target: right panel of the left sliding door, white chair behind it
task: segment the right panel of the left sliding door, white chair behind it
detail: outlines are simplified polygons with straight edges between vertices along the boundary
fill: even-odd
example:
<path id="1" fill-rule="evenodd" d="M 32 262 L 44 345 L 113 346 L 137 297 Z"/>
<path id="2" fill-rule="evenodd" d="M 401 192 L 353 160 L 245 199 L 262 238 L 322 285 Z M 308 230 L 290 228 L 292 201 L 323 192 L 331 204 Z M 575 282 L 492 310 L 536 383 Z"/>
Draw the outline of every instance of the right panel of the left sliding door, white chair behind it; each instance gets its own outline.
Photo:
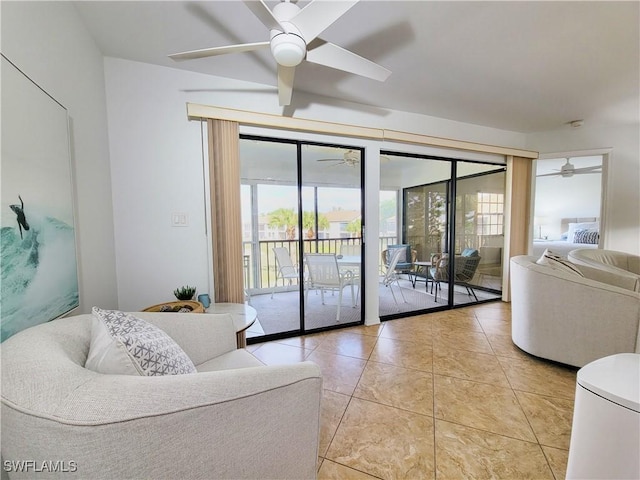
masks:
<path id="1" fill-rule="evenodd" d="M 302 148 L 307 330 L 362 319 L 362 154 L 326 145 Z"/>

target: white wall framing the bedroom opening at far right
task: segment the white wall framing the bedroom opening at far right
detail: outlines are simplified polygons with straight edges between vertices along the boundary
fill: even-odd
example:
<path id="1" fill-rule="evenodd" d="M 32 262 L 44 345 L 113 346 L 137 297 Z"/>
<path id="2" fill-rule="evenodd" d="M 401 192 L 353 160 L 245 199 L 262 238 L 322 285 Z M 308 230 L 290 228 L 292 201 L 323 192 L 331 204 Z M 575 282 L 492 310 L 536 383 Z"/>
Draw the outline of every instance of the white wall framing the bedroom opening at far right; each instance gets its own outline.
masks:
<path id="1" fill-rule="evenodd" d="M 540 154 L 611 148 L 604 248 L 640 254 L 640 125 L 564 127 L 527 136 Z"/>

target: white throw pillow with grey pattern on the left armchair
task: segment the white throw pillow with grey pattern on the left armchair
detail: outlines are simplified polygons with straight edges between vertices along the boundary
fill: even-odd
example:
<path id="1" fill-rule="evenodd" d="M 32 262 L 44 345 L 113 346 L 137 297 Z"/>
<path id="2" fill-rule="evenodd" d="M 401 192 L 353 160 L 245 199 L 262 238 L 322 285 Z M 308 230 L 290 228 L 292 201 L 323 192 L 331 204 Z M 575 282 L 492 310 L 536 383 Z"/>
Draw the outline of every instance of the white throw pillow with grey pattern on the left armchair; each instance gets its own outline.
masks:
<path id="1" fill-rule="evenodd" d="M 163 330 L 129 313 L 93 307 L 86 368 L 113 375 L 197 373 L 191 359 Z"/>

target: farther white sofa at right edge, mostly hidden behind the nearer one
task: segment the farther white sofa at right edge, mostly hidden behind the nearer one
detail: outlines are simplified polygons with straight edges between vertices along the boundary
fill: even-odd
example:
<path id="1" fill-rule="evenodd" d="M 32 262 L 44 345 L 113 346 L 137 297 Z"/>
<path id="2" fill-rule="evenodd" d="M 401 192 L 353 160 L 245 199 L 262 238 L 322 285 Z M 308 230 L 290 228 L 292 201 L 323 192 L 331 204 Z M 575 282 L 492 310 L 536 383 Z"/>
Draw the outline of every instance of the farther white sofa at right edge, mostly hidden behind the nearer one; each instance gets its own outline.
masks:
<path id="1" fill-rule="evenodd" d="M 640 256 L 616 250 L 600 248 L 578 248 L 567 255 L 570 262 L 576 265 L 606 270 L 624 277 L 630 288 L 640 292 Z"/>

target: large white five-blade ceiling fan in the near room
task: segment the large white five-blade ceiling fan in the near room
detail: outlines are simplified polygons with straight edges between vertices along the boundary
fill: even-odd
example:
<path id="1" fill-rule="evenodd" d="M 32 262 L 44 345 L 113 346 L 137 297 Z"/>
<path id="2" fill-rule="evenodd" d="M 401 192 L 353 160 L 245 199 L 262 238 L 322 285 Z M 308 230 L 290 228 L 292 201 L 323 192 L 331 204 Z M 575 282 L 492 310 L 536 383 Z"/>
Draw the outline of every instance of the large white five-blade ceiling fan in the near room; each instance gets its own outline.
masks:
<path id="1" fill-rule="evenodd" d="M 302 9 L 294 3 L 295 0 L 282 0 L 273 10 L 267 7 L 264 0 L 243 1 L 270 30 L 269 41 L 191 50 L 174 53 L 169 55 L 169 58 L 176 61 L 192 60 L 270 47 L 271 54 L 278 64 L 280 105 L 291 103 L 295 68 L 303 60 L 381 82 L 391 75 L 390 70 L 319 38 L 323 31 L 359 0 L 312 0 Z"/>

